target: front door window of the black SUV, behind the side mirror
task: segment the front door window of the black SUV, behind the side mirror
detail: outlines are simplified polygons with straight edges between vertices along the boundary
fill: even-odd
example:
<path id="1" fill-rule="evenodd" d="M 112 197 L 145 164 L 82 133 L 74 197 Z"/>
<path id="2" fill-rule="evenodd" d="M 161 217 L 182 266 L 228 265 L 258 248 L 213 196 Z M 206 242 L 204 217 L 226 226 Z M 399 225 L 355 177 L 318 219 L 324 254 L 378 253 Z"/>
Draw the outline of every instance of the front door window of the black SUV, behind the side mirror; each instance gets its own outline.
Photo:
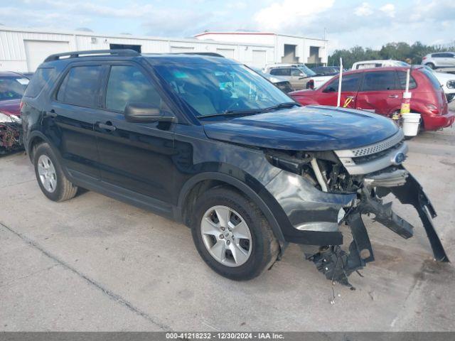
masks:
<path id="1" fill-rule="evenodd" d="M 113 65 L 106 90 L 106 108 L 123 112 L 128 103 L 161 108 L 161 97 L 144 73 L 132 65 Z"/>

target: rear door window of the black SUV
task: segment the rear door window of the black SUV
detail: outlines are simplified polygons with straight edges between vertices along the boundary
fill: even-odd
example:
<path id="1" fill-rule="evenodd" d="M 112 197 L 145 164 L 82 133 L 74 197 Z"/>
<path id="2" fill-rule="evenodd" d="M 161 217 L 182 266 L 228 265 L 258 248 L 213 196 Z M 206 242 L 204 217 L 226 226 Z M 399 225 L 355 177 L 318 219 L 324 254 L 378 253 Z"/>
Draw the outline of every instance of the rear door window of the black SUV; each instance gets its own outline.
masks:
<path id="1" fill-rule="evenodd" d="M 101 65 L 72 67 L 57 92 L 58 102 L 79 107 L 100 107 L 101 79 Z"/>

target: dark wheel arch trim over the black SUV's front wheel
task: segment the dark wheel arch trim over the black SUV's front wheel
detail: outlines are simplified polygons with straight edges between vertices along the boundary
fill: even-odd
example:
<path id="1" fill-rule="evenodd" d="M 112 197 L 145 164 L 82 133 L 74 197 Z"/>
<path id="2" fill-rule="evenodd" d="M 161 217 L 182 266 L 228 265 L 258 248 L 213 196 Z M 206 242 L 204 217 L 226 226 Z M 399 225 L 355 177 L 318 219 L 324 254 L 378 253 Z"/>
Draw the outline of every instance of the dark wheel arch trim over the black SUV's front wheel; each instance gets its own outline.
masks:
<path id="1" fill-rule="evenodd" d="M 231 188 L 239 191 L 252 202 L 255 202 L 259 210 L 262 211 L 277 238 L 280 247 L 287 244 L 284 240 L 284 235 L 281 227 L 277 221 L 272 210 L 269 208 L 264 198 L 258 193 L 262 190 L 254 190 L 250 186 L 243 183 L 241 180 L 233 177 L 232 175 L 218 173 L 218 172 L 205 172 L 194 175 L 183 185 L 180 195 L 178 196 L 178 210 L 180 211 L 181 220 L 184 224 L 191 224 L 191 208 L 196 202 L 198 193 L 203 190 L 218 187 L 220 185 L 228 185 Z"/>

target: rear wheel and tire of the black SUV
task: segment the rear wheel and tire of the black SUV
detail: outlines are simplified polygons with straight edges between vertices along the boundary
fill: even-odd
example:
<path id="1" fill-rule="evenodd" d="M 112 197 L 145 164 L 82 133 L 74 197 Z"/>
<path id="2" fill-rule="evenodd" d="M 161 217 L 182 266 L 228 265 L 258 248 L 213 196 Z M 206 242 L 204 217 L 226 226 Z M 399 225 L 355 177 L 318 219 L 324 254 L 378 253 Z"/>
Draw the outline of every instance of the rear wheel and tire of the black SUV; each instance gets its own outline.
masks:
<path id="1" fill-rule="evenodd" d="M 58 158 L 48 144 L 39 144 L 33 151 L 36 180 L 43 194 L 53 201 L 74 197 L 77 187 L 66 178 Z"/>

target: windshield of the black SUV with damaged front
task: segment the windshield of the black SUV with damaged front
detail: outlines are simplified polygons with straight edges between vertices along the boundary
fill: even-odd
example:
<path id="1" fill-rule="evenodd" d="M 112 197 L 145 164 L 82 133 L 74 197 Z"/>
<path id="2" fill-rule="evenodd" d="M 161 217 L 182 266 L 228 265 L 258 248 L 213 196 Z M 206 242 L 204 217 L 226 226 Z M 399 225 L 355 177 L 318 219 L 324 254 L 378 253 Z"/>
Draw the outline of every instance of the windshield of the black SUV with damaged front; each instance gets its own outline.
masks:
<path id="1" fill-rule="evenodd" d="M 294 102 L 243 65 L 159 65 L 156 71 L 198 117 L 259 111 Z"/>

